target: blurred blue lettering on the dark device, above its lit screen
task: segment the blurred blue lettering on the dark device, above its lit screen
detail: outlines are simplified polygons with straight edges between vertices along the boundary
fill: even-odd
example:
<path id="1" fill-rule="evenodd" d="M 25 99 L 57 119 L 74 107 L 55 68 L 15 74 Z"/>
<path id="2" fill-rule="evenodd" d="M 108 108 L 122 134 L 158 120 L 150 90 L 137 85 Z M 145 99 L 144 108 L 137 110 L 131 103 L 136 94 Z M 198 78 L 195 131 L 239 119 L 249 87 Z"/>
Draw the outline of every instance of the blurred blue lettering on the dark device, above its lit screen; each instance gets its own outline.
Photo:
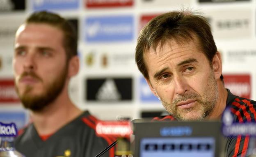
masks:
<path id="1" fill-rule="evenodd" d="M 160 129 L 161 136 L 190 136 L 192 128 L 189 126 L 164 127 Z"/>

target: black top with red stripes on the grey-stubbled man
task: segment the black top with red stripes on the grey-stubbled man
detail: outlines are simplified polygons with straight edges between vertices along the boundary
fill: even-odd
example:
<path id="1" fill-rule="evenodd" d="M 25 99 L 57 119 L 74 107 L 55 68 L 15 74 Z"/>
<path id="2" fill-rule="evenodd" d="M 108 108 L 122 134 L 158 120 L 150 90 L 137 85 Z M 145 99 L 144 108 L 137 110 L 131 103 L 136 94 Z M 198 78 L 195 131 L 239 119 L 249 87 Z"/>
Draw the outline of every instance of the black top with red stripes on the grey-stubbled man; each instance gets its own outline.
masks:
<path id="1" fill-rule="evenodd" d="M 231 114 L 233 115 L 233 121 L 244 122 L 256 122 L 256 102 L 246 98 L 233 95 L 229 89 L 228 98 L 226 101 L 226 107 L 231 108 Z M 163 117 L 155 117 L 153 120 L 165 121 L 176 120 L 173 116 L 167 115 Z M 225 151 L 226 157 L 247 157 L 247 149 L 249 145 L 250 137 L 238 135 L 237 137 L 226 137 Z"/>

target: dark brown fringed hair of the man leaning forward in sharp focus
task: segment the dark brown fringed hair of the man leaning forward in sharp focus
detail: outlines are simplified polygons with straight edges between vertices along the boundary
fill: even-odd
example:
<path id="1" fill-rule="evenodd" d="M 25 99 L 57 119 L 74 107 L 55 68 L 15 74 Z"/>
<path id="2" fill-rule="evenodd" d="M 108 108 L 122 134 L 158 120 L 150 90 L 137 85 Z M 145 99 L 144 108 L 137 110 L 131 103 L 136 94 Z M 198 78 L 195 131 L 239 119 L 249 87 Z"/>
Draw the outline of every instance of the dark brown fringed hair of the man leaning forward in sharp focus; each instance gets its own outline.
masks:
<path id="1" fill-rule="evenodd" d="M 199 49 L 206 55 L 210 65 L 217 53 L 210 24 L 203 16 L 191 11 L 172 11 L 158 15 L 142 29 L 136 46 L 135 61 L 139 71 L 149 79 L 147 67 L 143 58 L 145 52 L 153 48 L 156 51 L 158 44 L 163 46 L 167 40 L 178 44 L 190 42 L 197 38 Z M 220 77 L 223 80 L 223 76 Z"/>

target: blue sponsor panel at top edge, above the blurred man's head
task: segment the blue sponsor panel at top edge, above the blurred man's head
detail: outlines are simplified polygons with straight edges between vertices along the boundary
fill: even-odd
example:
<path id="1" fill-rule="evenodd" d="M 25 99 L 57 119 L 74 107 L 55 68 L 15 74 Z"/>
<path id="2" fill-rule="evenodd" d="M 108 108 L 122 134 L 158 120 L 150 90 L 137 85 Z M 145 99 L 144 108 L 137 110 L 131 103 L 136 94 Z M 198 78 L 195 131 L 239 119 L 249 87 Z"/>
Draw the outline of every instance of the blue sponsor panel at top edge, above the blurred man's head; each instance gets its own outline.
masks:
<path id="1" fill-rule="evenodd" d="M 34 10 L 78 9 L 78 0 L 32 0 Z"/>

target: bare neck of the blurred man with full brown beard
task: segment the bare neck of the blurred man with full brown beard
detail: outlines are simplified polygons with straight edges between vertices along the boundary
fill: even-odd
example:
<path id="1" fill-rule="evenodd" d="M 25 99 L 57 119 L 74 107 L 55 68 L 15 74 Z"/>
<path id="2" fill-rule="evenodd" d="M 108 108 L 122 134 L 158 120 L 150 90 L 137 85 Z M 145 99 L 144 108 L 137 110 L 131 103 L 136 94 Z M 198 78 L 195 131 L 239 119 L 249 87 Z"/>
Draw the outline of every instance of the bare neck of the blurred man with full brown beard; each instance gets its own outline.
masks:
<path id="1" fill-rule="evenodd" d="M 61 93 L 54 102 L 39 112 L 31 112 L 32 122 L 39 135 L 53 134 L 78 117 L 82 111 Z"/>

